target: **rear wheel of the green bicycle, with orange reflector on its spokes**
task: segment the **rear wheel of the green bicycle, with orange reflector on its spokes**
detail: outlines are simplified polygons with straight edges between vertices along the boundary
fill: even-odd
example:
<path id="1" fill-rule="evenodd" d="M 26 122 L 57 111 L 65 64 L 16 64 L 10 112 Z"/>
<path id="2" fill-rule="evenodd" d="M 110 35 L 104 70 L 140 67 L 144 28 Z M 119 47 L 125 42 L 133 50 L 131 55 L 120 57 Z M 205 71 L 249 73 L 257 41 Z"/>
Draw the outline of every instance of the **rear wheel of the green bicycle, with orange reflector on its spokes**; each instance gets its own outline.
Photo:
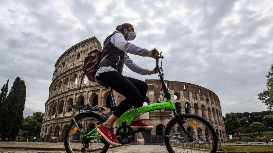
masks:
<path id="1" fill-rule="evenodd" d="M 75 117 L 78 127 L 72 121 L 65 133 L 65 150 L 68 153 L 95 152 L 106 153 L 110 144 L 99 143 L 95 139 L 82 139 L 82 133 L 88 133 L 96 127 L 103 118 L 95 113 L 85 113 Z M 97 133 L 97 132 L 96 132 Z M 98 133 L 96 134 L 98 135 Z M 86 147 L 88 146 L 88 147 Z"/>

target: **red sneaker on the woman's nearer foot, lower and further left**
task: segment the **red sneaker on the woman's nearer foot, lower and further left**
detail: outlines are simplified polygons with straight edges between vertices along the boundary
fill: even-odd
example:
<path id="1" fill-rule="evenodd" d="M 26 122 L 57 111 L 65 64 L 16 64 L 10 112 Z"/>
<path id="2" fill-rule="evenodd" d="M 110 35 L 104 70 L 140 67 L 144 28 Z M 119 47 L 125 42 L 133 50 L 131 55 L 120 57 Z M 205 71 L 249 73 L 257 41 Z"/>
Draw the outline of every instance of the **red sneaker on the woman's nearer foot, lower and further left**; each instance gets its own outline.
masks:
<path id="1" fill-rule="evenodd" d="M 105 129 L 104 126 L 102 126 L 102 124 L 97 128 L 97 131 L 99 134 L 101 134 L 101 136 L 111 145 L 113 146 L 119 146 L 119 142 L 116 140 L 116 138 L 114 137 L 114 130 L 113 128 L 110 129 Z"/>

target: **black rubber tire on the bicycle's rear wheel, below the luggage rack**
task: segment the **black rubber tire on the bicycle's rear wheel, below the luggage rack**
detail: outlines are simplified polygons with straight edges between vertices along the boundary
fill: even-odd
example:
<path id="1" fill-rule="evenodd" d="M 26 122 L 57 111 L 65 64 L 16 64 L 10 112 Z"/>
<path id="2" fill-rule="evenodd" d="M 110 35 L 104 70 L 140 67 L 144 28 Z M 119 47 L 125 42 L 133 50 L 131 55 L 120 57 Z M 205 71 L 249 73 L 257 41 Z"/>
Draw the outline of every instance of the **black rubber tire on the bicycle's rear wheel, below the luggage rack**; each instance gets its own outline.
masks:
<path id="1" fill-rule="evenodd" d="M 96 114 L 96 113 L 83 113 L 82 115 L 79 115 L 77 117 L 75 117 L 75 121 L 79 121 L 80 119 L 84 118 L 84 117 L 93 117 L 95 119 L 97 119 L 98 121 L 101 121 L 103 118 Z M 69 131 L 71 130 L 71 128 L 73 128 L 75 126 L 75 123 L 74 121 L 71 121 L 71 123 L 69 124 L 69 126 L 67 127 L 67 130 L 65 132 L 65 151 L 67 153 L 74 153 L 74 151 L 71 151 L 70 147 L 69 147 Z M 102 150 L 100 151 L 100 153 L 106 153 L 108 151 L 108 148 L 109 148 L 110 144 L 107 143 L 104 145 L 104 147 L 102 148 Z"/>

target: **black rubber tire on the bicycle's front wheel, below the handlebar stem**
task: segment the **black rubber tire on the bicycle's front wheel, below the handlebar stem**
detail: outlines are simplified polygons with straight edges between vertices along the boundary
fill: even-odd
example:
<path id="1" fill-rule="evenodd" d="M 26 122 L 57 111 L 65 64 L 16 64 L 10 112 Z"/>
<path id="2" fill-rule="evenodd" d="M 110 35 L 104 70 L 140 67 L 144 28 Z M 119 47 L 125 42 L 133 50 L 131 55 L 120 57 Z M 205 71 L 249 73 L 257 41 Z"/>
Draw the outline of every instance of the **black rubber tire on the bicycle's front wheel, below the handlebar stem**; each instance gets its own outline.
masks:
<path id="1" fill-rule="evenodd" d="M 182 114 L 181 116 L 182 116 L 182 118 L 193 118 L 193 119 L 199 120 L 200 122 L 203 122 L 204 125 L 206 125 L 208 130 L 211 131 L 211 135 L 212 135 L 213 145 L 211 147 L 210 153 L 215 153 L 217 151 L 218 139 L 217 139 L 216 132 L 213 129 L 212 125 L 207 120 L 205 120 L 203 117 L 197 116 L 195 114 Z M 175 124 L 177 124 L 177 119 L 176 118 L 174 118 L 173 120 L 171 120 L 168 123 L 168 125 L 166 126 L 165 131 L 164 131 L 164 141 L 165 141 L 165 145 L 166 145 L 166 148 L 168 150 L 168 153 L 175 153 L 175 152 L 173 151 L 172 146 L 170 144 L 170 141 L 169 141 L 170 138 L 166 137 L 165 135 L 170 134 L 170 132 L 172 130 L 172 127 Z"/>

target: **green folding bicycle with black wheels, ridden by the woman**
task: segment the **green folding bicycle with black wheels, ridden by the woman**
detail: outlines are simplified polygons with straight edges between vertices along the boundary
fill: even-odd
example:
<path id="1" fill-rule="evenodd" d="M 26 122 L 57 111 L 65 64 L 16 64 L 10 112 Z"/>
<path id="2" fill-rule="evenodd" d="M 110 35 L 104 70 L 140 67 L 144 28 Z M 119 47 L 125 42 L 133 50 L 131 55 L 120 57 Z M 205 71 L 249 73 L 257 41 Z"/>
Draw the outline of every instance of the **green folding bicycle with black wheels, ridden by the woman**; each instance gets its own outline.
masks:
<path id="1" fill-rule="evenodd" d="M 161 59 L 161 66 L 159 67 L 159 59 Z M 123 144 L 129 144 L 134 140 L 134 136 L 138 132 L 145 132 L 145 129 L 133 130 L 129 125 L 131 121 L 143 114 L 154 110 L 171 109 L 173 112 L 172 119 L 166 125 L 163 133 L 163 140 L 165 142 L 167 151 L 169 153 L 214 153 L 217 151 L 217 136 L 212 125 L 203 117 L 194 114 L 183 114 L 180 112 L 180 108 L 175 107 L 172 103 L 171 94 L 163 79 L 162 60 L 163 56 L 160 56 L 156 60 L 156 70 L 158 70 L 158 76 L 161 81 L 161 86 L 164 93 L 165 102 L 150 104 L 139 108 L 134 108 L 121 117 L 118 118 L 117 132 L 115 138 L 118 142 Z M 110 94 L 113 100 L 114 110 L 116 102 L 114 99 L 113 90 L 110 88 Z M 96 152 L 106 153 L 110 147 L 100 134 L 96 131 L 99 125 L 104 123 L 108 116 L 103 112 L 110 109 L 99 106 L 87 105 L 70 105 L 69 107 L 78 109 L 78 111 L 84 110 L 82 113 L 75 115 L 70 121 L 65 133 L 65 150 L 68 153 L 76 152 Z M 122 125 L 122 121 L 127 121 L 126 125 Z M 92 125 L 95 126 L 90 126 Z M 95 143 L 95 139 L 101 138 L 103 143 Z M 118 146 L 119 147 L 119 146 Z"/>

